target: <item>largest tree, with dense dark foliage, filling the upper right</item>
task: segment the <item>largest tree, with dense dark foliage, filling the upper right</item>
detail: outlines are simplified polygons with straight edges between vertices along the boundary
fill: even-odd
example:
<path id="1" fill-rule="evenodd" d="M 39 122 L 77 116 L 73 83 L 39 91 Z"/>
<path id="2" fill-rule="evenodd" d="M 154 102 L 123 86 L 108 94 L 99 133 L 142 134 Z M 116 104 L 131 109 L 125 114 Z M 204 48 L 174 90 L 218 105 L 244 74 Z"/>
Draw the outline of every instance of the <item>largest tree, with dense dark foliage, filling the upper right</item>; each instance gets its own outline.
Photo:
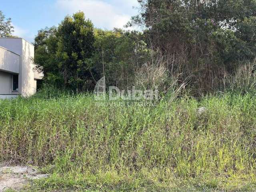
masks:
<path id="1" fill-rule="evenodd" d="M 182 79 L 193 76 L 195 89 L 211 89 L 224 70 L 256 57 L 255 0 L 138 2 L 140 12 L 128 25 L 144 26 L 168 68 L 180 70 Z"/>

